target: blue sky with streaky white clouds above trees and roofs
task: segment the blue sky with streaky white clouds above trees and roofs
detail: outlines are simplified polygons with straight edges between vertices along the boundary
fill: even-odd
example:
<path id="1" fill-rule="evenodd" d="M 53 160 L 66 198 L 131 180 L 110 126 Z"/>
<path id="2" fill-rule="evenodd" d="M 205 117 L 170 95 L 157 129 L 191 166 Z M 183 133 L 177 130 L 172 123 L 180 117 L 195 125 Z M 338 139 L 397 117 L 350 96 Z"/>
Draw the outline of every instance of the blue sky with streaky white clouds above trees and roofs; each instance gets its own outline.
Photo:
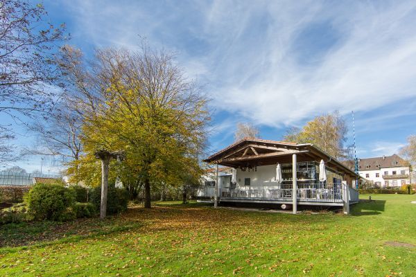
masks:
<path id="1" fill-rule="evenodd" d="M 238 122 L 263 139 L 336 109 L 359 157 L 397 152 L 416 132 L 415 1 L 44 1 L 70 44 L 150 46 L 177 53 L 212 99 L 210 150 Z M 6 120 L 6 119 L 5 119 Z M 17 145 L 33 138 L 19 136 Z M 31 171 L 38 159 L 19 161 Z M 56 168 L 49 168 L 52 172 Z"/>

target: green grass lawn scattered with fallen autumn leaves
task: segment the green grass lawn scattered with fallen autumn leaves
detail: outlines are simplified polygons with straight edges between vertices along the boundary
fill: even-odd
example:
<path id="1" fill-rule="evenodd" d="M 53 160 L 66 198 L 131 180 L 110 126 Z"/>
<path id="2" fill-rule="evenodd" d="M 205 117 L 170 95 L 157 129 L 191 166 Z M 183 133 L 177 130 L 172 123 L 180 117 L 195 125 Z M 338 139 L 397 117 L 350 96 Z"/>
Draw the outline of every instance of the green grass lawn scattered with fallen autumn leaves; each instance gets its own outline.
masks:
<path id="1" fill-rule="evenodd" d="M 0 276 L 416 276 L 416 248 L 385 244 L 416 245 L 416 195 L 372 198 L 349 216 L 166 203 L 1 226 Z"/>

